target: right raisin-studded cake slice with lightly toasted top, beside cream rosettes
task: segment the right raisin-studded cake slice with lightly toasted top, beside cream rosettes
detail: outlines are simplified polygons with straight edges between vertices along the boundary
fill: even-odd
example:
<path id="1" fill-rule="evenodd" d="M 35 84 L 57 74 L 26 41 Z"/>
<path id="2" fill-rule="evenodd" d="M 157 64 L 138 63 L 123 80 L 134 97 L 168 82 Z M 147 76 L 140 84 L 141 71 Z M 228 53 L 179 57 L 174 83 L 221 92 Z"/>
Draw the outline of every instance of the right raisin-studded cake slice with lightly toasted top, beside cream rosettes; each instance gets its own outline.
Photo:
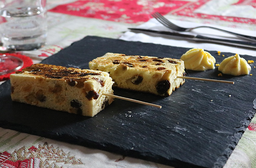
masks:
<path id="1" fill-rule="evenodd" d="M 106 53 L 89 63 L 90 69 L 108 72 L 118 88 L 170 96 L 185 80 L 184 62 L 172 58 Z"/>

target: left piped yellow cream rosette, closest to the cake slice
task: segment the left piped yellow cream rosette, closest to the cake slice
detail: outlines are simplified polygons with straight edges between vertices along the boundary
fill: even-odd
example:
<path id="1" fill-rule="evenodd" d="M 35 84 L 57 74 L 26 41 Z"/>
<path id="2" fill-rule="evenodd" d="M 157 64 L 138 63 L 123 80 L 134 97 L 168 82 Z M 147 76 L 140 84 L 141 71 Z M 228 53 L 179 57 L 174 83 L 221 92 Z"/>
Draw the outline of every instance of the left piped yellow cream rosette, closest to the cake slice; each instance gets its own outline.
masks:
<path id="1" fill-rule="evenodd" d="M 192 48 L 180 57 L 187 70 L 205 71 L 214 69 L 215 58 L 200 48 Z"/>

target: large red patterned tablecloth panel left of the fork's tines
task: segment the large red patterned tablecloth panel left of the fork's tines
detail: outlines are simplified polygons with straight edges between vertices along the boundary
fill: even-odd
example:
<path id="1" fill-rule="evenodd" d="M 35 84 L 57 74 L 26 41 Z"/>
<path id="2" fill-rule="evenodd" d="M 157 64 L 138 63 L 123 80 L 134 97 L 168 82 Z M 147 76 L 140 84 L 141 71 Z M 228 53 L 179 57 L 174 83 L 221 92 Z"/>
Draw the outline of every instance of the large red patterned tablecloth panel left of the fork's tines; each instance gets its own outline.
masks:
<path id="1" fill-rule="evenodd" d="M 114 22 L 137 23 L 148 21 L 153 12 L 167 14 L 187 3 L 188 1 L 182 0 L 77 0 L 56 6 L 49 11 Z"/>

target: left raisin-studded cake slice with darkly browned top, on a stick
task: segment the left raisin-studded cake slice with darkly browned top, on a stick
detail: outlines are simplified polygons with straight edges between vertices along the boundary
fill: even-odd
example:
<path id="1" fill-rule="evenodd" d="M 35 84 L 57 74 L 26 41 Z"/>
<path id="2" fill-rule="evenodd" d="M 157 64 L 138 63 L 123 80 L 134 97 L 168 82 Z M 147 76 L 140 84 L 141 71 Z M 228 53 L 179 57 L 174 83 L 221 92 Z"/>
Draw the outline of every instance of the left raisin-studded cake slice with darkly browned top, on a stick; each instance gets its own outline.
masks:
<path id="1" fill-rule="evenodd" d="M 94 116 L 113 99 L 112 79 L 106 72 L 48 64 L 33 64 L 10 75 L 13 101 Z"/>

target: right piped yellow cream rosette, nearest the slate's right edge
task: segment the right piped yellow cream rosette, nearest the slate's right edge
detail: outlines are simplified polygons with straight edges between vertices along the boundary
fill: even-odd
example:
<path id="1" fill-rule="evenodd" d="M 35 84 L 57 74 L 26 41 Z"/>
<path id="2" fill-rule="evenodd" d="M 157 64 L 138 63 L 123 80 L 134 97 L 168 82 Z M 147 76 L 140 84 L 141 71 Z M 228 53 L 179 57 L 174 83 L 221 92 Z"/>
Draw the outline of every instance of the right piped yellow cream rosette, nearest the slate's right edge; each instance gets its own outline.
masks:
<path id="1" fill-rule="evenodd" d="M 218 68 L 223 74 L 234 76 L 247 75 L 251 70 L 251 66 L 239 54 L 225 58 Z"/>

